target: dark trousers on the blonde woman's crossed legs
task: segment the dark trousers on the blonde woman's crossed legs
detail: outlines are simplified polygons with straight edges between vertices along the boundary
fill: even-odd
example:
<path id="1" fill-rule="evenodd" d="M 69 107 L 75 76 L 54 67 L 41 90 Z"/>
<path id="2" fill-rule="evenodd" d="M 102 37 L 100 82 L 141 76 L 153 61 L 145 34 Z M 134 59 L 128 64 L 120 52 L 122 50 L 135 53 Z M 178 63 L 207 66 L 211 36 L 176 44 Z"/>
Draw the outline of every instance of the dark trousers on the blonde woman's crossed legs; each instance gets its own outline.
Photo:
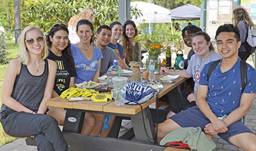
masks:
<path id="1" fill-rule="evenodd" d="M 68 150 L 58 122 L 49 115 L 24 112 L 10 113 L 1 118 L 4 132 L 19 138 L 35 136 L 37 150 Z"/>

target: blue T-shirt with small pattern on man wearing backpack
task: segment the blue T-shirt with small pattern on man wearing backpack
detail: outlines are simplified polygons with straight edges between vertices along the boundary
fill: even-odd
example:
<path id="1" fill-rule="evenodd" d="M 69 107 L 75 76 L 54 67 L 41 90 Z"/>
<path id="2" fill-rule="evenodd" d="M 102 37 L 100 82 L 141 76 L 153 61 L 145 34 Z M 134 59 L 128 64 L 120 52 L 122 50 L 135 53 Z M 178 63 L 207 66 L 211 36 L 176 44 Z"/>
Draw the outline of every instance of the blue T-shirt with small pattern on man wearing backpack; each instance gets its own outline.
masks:
<path id="1" fill-rule="evenodd" d="M 209 87 L 206 101 L 216 116 L 229 115 L 239 107 L 242 95 L 240 60 L 239 58 L 230 70 L 223 73 L 220 70 L 221 60 L 213 70 L 209 81 L 207 72 L 213 62 L 205 65 L 201 72 L 199 84 Z M 248 63 L 247 68 L 247 84 L 243 93 L 256 93 L 256 70 Z"/>

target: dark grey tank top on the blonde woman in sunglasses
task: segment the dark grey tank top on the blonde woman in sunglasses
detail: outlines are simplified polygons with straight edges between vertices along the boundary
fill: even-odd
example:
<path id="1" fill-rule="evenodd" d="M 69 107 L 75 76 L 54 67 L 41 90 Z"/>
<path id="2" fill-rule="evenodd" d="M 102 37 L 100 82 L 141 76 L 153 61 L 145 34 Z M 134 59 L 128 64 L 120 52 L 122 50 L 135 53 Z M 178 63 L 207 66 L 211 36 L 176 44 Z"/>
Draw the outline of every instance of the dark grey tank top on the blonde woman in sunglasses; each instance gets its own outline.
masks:
<path id="1" fill-rule="evenodd" d="M 12 91 L 12 98 L 20 102 L 23 106 L 38 111 L 40 102 L 44 97 L 44 91 L 48 76 L 48 61 L 45 61 L 44 72 L 40 76 L 30 74 L 27 65 L 21 63 L 20 73 L 15 79 Z M 0 118 L 13 113 L 14 111 L 4 104 L 1 107 Z M 7 114 L 6 114 L 7 113 Z M 4 115 L 3 115 L 4 114 Z"/>

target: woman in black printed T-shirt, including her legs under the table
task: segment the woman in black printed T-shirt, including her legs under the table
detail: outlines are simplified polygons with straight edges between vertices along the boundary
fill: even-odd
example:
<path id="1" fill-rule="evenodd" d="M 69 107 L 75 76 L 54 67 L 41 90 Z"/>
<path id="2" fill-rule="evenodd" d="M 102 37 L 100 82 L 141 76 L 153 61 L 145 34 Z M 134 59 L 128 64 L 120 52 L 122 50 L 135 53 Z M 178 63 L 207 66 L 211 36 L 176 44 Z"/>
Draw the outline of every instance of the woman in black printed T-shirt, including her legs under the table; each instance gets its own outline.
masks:
<path id="1" fill-rule="evenodd" d="M 49 58 L 57 64 L 57 72 L 52 90 L 52 98 L 58 97 L 68 88 L 76 87 L 75 77 L 76 68 L 71 53 L 71 44 L 68 40 L 68 29 L 64 24 L 54 24 L 47 35 L 47 45 L 49 48 Z M 47 115 L 51 115 L 58 121 L 59 125 L 63 125 L 66 110 L 60 107 L 49 107 Z M 92 131 L 95 124 L 94 118 L 91 116 L 84 117 L 84 125 L 82 134 L 88 134 Z"/>

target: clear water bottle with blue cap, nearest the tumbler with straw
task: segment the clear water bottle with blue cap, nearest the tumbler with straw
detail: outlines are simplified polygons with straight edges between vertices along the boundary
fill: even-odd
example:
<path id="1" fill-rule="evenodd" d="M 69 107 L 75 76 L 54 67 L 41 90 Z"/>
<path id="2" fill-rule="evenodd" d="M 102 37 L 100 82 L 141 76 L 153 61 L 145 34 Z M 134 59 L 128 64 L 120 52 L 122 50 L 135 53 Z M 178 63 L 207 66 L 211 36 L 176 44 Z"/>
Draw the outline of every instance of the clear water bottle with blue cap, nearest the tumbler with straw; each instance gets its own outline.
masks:
<path id="1" fill-rule="evenodd" d="M 116 60 L 114 60 L 113 65 L 108 68 L 108 91 L 111 91 L 113 89 L 113 83 L 112 83 L 112 78 L 113 77 L 119 77 L 118 76 L 118 63 Z M 123 70 L 120 67 L 120 77 L 123 76 Z"/>

